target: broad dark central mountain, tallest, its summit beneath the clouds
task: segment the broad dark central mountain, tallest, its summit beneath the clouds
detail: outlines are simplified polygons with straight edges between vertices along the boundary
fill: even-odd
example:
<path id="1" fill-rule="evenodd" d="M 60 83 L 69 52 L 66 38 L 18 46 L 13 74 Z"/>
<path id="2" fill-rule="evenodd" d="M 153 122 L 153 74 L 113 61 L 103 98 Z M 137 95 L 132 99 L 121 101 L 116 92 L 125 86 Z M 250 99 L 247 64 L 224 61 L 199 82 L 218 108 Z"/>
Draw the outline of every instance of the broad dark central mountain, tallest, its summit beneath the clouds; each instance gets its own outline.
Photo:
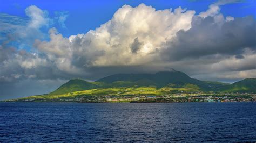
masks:
<path id="1" fill-rule="evenodd" d="M 183 87 L 186 84 L 193 84 L 202 90 L 217 89 L 225 83 L 200 81 L 186 75 L 181 71 L 160 71 L 156 74 L 115 74 L 97 80 L 96 82 L 103 82 L 111 84 L 115 87 L 122 86 L 156 86 L 157 88 L 171 86 Z M 120 84 L 123 83 L 123 84 Z"/>

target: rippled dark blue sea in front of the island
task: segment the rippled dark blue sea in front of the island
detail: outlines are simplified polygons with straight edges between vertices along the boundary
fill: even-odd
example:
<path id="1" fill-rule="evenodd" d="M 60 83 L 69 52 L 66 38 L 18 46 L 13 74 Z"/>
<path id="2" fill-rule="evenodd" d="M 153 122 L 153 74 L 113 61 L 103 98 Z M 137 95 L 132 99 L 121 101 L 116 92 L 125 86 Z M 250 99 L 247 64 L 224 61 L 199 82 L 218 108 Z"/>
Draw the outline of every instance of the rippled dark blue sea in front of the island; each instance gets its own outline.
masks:
<path id="1" fill-rule="evenodd" d="M 256 141 L 256 103 L 0 103 L 0 141 Z"/>

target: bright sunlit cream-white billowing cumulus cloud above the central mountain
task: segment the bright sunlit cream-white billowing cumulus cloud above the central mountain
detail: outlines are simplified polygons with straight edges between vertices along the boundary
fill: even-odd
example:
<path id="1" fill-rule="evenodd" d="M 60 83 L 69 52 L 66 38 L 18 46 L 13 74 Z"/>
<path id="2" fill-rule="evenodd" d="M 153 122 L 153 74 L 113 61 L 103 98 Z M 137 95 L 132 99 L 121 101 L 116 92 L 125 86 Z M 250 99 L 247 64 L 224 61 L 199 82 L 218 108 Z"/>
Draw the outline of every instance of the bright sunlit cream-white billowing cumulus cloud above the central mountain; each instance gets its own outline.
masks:
<path id="1" fill-rule="evenodd" d="M 143 65 L 159 59 L 157 51 L 178 31 L 190 29 L 193 16 L 194 11 L 181 8 L 172 12 L 156 11 L 145 4 L 137 8 L 124 5 L 95 31 L 66 39 L 52 29 L 49 31 L 51 40 L 36 41 L 35 46 L 50 55 L 50 59 L 54 56 L 82 69 Z"/>

